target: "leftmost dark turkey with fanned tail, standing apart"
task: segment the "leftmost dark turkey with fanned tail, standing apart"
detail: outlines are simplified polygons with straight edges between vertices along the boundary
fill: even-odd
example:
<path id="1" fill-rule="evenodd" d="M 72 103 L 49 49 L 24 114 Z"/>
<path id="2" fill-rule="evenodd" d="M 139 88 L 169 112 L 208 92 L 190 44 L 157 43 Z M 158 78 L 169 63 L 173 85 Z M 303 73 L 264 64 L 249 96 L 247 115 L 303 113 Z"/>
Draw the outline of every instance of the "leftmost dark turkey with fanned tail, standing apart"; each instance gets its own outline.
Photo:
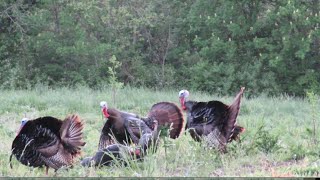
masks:
<path id="1" fill-rule="evenodd" d="M 64 121 L 46 116 L 27 121 L 23 119 L 12 143 L 12 155 L 26 166 L 49 167 L 58 170 L 70 166 L 80 155 L 83 123 L 79 116 L 71 115 Z"/>

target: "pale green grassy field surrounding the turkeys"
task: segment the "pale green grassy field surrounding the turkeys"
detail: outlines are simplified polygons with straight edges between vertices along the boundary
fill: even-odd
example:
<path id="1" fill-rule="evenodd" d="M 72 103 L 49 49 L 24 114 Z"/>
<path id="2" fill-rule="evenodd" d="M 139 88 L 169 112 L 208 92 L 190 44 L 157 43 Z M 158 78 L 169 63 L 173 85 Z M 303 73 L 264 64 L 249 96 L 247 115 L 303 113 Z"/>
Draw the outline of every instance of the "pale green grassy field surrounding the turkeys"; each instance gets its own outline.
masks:
<path id="1" fill-rule="evenodd" d="M 85 122 L 84 138 L 87 145 L 82 157 L 97 150 L 100 131 L 104 124 L 99 102 L 106 100 L 109 107 L 144 116 L 156 102 L 171 101 L 178 104 L 178 92 L 152 91 L 124 88 L 112 103 L 110 90 L 94 91 L 78 89 L 48 89 L 39 86 L 32 91 L 0 92 L 0 176 L 43 177 L 45 169 L 30 168 L 13 160 L 9 167 L 11 143 L 24 116 L 54 116 L 63 119 L 76 113 Z M 249 91 L 245 92 L 248 94 Z M 234 94 L 236 94 L 235 92 Z M 220 100 L 227 104 L 233 97 L 191 92 L 190 99 L 198 101 Z M 320 176 L 319 98 L 275 98 L 260 96 L 243 98 L 238 123 L 246 128 L 241 142 L 228 145 L 228 153 L 220 154 L 203 147 L 183 133 L 176 140 L 164 140 L 155 154 L 149 154 L 143 162 L 129 166 L 114 165 L 103 168 L 83 168 L 78 160 L 71 169 L 60 169 L 49 176 L 58 177 L 145 177 L 145 176 Z M 316 134 L 313 133 L 316 122 Z"/>

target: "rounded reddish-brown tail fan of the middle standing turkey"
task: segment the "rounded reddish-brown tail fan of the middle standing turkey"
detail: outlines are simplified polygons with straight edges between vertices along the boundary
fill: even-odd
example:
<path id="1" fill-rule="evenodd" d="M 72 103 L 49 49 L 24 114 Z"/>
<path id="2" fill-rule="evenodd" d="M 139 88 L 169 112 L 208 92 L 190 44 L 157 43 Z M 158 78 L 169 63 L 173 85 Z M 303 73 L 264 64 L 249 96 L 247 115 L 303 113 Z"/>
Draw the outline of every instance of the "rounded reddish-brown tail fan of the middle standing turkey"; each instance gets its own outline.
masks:
<path id="1" fill-rule="evenodd" d="M 179 137 L 184 126 L 183 114 L 174 103 L 159 102 L 154 104 L 148 113 L 148 117 L 156 119 L 159 126 L 170 128 L 170 138 L 173 139 Z"/>

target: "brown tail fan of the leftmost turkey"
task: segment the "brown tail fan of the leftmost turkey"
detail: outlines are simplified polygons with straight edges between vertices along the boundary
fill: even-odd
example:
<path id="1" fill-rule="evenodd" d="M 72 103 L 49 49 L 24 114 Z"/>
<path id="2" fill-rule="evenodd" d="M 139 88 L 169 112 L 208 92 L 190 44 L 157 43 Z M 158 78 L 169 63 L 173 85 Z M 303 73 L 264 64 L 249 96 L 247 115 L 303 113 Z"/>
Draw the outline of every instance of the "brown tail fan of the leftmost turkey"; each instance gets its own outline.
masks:
<path id="1" fill-rule="evenodd" d="M 80 153 L 79 146 L 86 144 L 83 142 L 82 129 L 83 123 L 77 115 L 67 117 L 60 128 L 61 140 L 72 155 Z"/>

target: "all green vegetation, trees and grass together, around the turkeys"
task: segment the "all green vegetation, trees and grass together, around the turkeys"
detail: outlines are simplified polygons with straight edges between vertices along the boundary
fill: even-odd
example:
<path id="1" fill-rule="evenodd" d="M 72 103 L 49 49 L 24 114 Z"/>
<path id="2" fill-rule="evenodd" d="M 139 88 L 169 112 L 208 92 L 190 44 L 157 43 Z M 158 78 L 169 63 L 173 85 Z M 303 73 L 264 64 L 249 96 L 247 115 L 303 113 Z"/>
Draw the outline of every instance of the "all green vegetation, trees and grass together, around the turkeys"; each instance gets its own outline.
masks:
<path id="1" fill-rule="evenodd" d="M 143 116 L 181 89 L 230 103 L 241 86 L 246 132 L 227 154 L 186 133 L 143 162 L 57 176 L 319 176 L 319 16 L 318 0 L 0 1 L 0 176 L 45 174 L 9 168 L 24 116 L 79 114 L 85 157 L 102 100 Z"/>

